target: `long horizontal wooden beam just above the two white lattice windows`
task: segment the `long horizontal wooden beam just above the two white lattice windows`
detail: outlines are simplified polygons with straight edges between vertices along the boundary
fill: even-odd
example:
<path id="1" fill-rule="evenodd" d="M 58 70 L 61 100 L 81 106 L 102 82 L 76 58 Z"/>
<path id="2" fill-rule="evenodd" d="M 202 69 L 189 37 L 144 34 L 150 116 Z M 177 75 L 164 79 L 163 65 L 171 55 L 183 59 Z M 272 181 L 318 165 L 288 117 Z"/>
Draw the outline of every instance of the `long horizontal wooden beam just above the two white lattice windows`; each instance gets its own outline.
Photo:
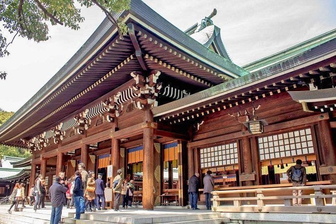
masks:
<path id="1" fill-rule="evenodd" d="M 327 119 L 329 119 L 328 113 L 323 113 L 323 114 L 319 114 L 319 115 L 299 118 L 299 119 L 295 119 L 295 120 L 292 120 L 292 121 L 286 121 L 286 122 L 282 122 L 282 123 L 279 123 L 279 124 L 265 126 L 264 127 L 264 133 L 272 132 L 272 131 L 278 131 L 278 130 L 282 130 L 282 129 L 288 129 L 288 128 L 295 128 L 296 126 L 311 124 L 311 123 L 315 123 L 315 122 L 318 122 L 318 121 L 321 121 L 321 120 L 327 120 Z M 206 145 L 209 145 L 209 144 L 212 145 L 212 144 L 241 138 L 243 136 L 250 136 L 250 135 L 252 135 L 252 134 L 247 132 L 247 131 L 244 131 L 244 132 L 239 131 L 239 132 L 230 133 L 230 134 L 217 136 L 217 137 L 213 137 L 213 138 L 207 138 L 207 139 L 200 140 L 200 141 L 190 142 L 190 143 L 187 144 L 187 147 L 196 148 L 196 147 L 200 147 L 200 146 L 206 146 Z M 259 136 L 259 135 L 256 135 L 256 136 Z"/>

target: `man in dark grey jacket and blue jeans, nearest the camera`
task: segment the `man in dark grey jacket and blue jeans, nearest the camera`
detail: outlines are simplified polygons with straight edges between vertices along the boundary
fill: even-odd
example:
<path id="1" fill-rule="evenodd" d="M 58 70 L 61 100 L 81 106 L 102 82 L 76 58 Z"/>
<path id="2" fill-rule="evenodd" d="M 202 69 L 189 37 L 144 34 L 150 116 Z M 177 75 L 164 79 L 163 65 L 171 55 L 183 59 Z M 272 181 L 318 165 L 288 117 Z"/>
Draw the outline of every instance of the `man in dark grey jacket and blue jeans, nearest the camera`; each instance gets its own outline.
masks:
<path id="1" fill-rule="evenodd" d="M 55 178 L 55 183 L 49 189 L 49 197 L 51 200 L 50 224 L 59 223 L 62 215 L 62 208 L 65 203 L 64 193 L 67 192 L 68 187 L 63 187 L 60 182 L 61 178 L 57 176 Z"/>

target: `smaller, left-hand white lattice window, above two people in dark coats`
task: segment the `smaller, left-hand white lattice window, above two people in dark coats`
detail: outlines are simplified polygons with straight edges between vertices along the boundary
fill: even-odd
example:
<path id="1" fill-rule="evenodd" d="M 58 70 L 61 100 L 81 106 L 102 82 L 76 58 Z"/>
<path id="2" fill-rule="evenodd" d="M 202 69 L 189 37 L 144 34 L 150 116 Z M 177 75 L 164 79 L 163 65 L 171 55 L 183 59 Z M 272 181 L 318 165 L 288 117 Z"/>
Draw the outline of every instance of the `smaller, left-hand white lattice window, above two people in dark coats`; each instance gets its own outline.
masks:
<path id="1" fill-rule="evenodd" d="M 220 167 L 238 163 L 237 143 L 213 146 L 200 150 L 201 168 Z"/>

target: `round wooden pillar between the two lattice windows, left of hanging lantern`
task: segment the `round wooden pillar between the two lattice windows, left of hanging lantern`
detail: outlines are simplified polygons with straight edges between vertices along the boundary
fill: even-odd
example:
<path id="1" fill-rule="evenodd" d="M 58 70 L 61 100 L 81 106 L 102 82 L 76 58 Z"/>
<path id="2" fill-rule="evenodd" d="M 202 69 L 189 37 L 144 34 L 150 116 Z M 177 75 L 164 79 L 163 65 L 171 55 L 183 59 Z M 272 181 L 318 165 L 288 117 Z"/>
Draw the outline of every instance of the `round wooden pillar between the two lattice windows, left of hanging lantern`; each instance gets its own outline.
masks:
<path id="1" fill-rule="evenodd" d="M 243 125 L 242 132 L 247 133 L 247 128 Z M 251 174 L 253 171 L 252 166 L 252 155 L 251 155 L 251 146 L 250 141 L 247 136 L 242 138 L 242 150 L 243 150 L 243 168 L 245 174 Z M 245 186 L 252 186 L 253 181 L 244 181 Z"/>

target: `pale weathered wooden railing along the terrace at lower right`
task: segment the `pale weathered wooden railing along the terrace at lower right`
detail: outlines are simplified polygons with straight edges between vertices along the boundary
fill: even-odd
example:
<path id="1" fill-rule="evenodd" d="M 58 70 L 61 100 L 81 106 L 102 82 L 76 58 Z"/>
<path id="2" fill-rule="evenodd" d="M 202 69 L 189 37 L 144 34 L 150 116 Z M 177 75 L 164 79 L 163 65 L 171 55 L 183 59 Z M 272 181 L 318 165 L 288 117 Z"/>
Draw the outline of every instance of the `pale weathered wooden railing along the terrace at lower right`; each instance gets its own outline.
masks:
<path id="1" fill-rule="evenodd" d="M 336 214 L 336 206 L 333 200 L 332 205 L 326 205 L 325 199 L 336 198 L 334 194 L 324 194 L 336 189 L 336 185 L 316 185 L 306 187 L 272 187 L 240 190 L 216 190 L 213 191 L 212 210 L 222 212 L 284 212 L 284 213 L 332 213 Z M 309 195 L 293 196 L 288 192 L 292 190 L 303 190 L 303 194 Z M 287 192 L 287 193 L 284 193 Z M 239 194 L 240 196 L 236 197 Z M 265 196 L 270 195 L 270 196 Z M 225 196 L 230 197 L 225 197 Z M 274 196 L 278 195 L 278 196 Z M 308 205 L 292 206 L 293 198 L 311 199 Z M 279 204 L 265 205 L 267 201 L 282 201 Z M 229 205 L 221 205 L 229 204 Z M 245 202 L 245 205 L 242 205 Z M 233 204 L 233 205 L 232 205 Z"/>

